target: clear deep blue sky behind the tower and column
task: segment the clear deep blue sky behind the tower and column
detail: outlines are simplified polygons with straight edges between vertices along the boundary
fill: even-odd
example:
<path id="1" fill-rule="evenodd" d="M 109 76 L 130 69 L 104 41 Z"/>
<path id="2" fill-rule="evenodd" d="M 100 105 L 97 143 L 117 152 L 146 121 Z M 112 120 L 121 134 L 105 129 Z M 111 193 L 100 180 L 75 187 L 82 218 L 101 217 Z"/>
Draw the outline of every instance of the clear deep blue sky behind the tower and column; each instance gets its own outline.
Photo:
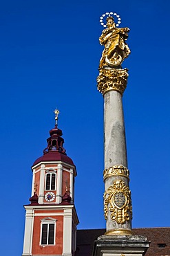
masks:
<path id="1" fill-rule="evenodd" d="M 99 17 L 107 11 L 131 29 L 123 107 L 133 227 L 169 226 L 169 7 L 169 0 L 1 1 L 3 255 L 22 253 L 30 167 L 43 154 L 56 107 L 78 172 L 78 228 L 105 228 L 103 96 L 96 77 L 103 51 Z"/>

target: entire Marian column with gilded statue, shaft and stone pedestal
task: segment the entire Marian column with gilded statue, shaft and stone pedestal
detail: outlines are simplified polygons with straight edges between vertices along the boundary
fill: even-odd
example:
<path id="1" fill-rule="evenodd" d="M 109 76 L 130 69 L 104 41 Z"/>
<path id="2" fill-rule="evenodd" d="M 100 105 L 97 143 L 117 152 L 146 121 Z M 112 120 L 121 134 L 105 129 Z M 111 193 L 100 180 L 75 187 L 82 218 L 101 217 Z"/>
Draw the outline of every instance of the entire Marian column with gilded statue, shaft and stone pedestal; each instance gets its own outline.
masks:
<path id="1" fill-rule="evenodd" d="M 113 16 L 118 20 L 117 24 Z M 104 19 L 106 19 L 106 25 Z M 128 69 L 121 66 L 123 60 L 130 54 L 126 43 L 129 28 L 118 28 L 120 20 L 120 16 L 113 12 L 106 12 L 100 17 L 100 23 L 105 29 L 99 41 L 105 48 L 100 59 L 97 82 L 98 91 L 104 97 L 105 170 L 103 179 L 106 232 L 105 235 L 98 237 L 98 241 L 95 241 L 95 256 L 127 256 L 136 253 L 140 256 L 144 255 L 149 246 L 145 237 L 134 236 L 131 231 L 131 191 L 129 190 L 122 104 L 123 92 L 127 86 Z M 123 247 L 130 249 L 124 250 Z"/>

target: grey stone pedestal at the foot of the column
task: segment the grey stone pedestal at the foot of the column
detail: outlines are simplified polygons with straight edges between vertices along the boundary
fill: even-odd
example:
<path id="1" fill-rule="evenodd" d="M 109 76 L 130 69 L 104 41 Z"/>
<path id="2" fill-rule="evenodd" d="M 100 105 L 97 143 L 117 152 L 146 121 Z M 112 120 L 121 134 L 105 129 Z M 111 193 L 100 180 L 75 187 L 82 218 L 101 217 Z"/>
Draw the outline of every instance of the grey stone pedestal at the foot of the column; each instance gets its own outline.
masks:
<path id="1" fill-rule="evenodd" d="M 94 241 L 92 256 L 143 256 L 149 242 L 140 235 L 102 235 Z"/>

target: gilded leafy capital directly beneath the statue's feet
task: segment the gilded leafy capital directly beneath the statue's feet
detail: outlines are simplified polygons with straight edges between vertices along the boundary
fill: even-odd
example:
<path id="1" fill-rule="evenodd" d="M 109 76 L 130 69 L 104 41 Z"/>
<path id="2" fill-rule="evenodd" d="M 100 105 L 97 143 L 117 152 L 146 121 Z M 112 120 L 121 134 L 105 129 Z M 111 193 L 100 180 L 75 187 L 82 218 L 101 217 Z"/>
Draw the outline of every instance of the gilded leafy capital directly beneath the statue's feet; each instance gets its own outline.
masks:
<path id="1" fill-rule="evenodd" d="M 127 86 L 127 71 L 127 68 L 99 68 L 99 75 L 97 77 L 98 91 L 105 94 L 107 91 L 115 90 L 123 95 Z"/>

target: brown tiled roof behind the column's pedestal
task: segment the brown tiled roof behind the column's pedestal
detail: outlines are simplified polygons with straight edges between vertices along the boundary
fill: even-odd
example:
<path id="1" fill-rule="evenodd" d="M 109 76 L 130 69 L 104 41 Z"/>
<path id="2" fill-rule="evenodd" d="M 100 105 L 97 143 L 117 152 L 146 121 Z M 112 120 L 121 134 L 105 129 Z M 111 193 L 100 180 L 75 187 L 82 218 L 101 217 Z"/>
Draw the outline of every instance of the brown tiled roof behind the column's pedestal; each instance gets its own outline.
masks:
<path id="1" fill-rule="evenodd" d="M 132 231 L 151 241 L 145 256 L 170 256 L 170 228 L 133 228 Z M 94 240 L 104 233 L 105 229 L 77 230 L 76 256 L 92 256 Z"/>

